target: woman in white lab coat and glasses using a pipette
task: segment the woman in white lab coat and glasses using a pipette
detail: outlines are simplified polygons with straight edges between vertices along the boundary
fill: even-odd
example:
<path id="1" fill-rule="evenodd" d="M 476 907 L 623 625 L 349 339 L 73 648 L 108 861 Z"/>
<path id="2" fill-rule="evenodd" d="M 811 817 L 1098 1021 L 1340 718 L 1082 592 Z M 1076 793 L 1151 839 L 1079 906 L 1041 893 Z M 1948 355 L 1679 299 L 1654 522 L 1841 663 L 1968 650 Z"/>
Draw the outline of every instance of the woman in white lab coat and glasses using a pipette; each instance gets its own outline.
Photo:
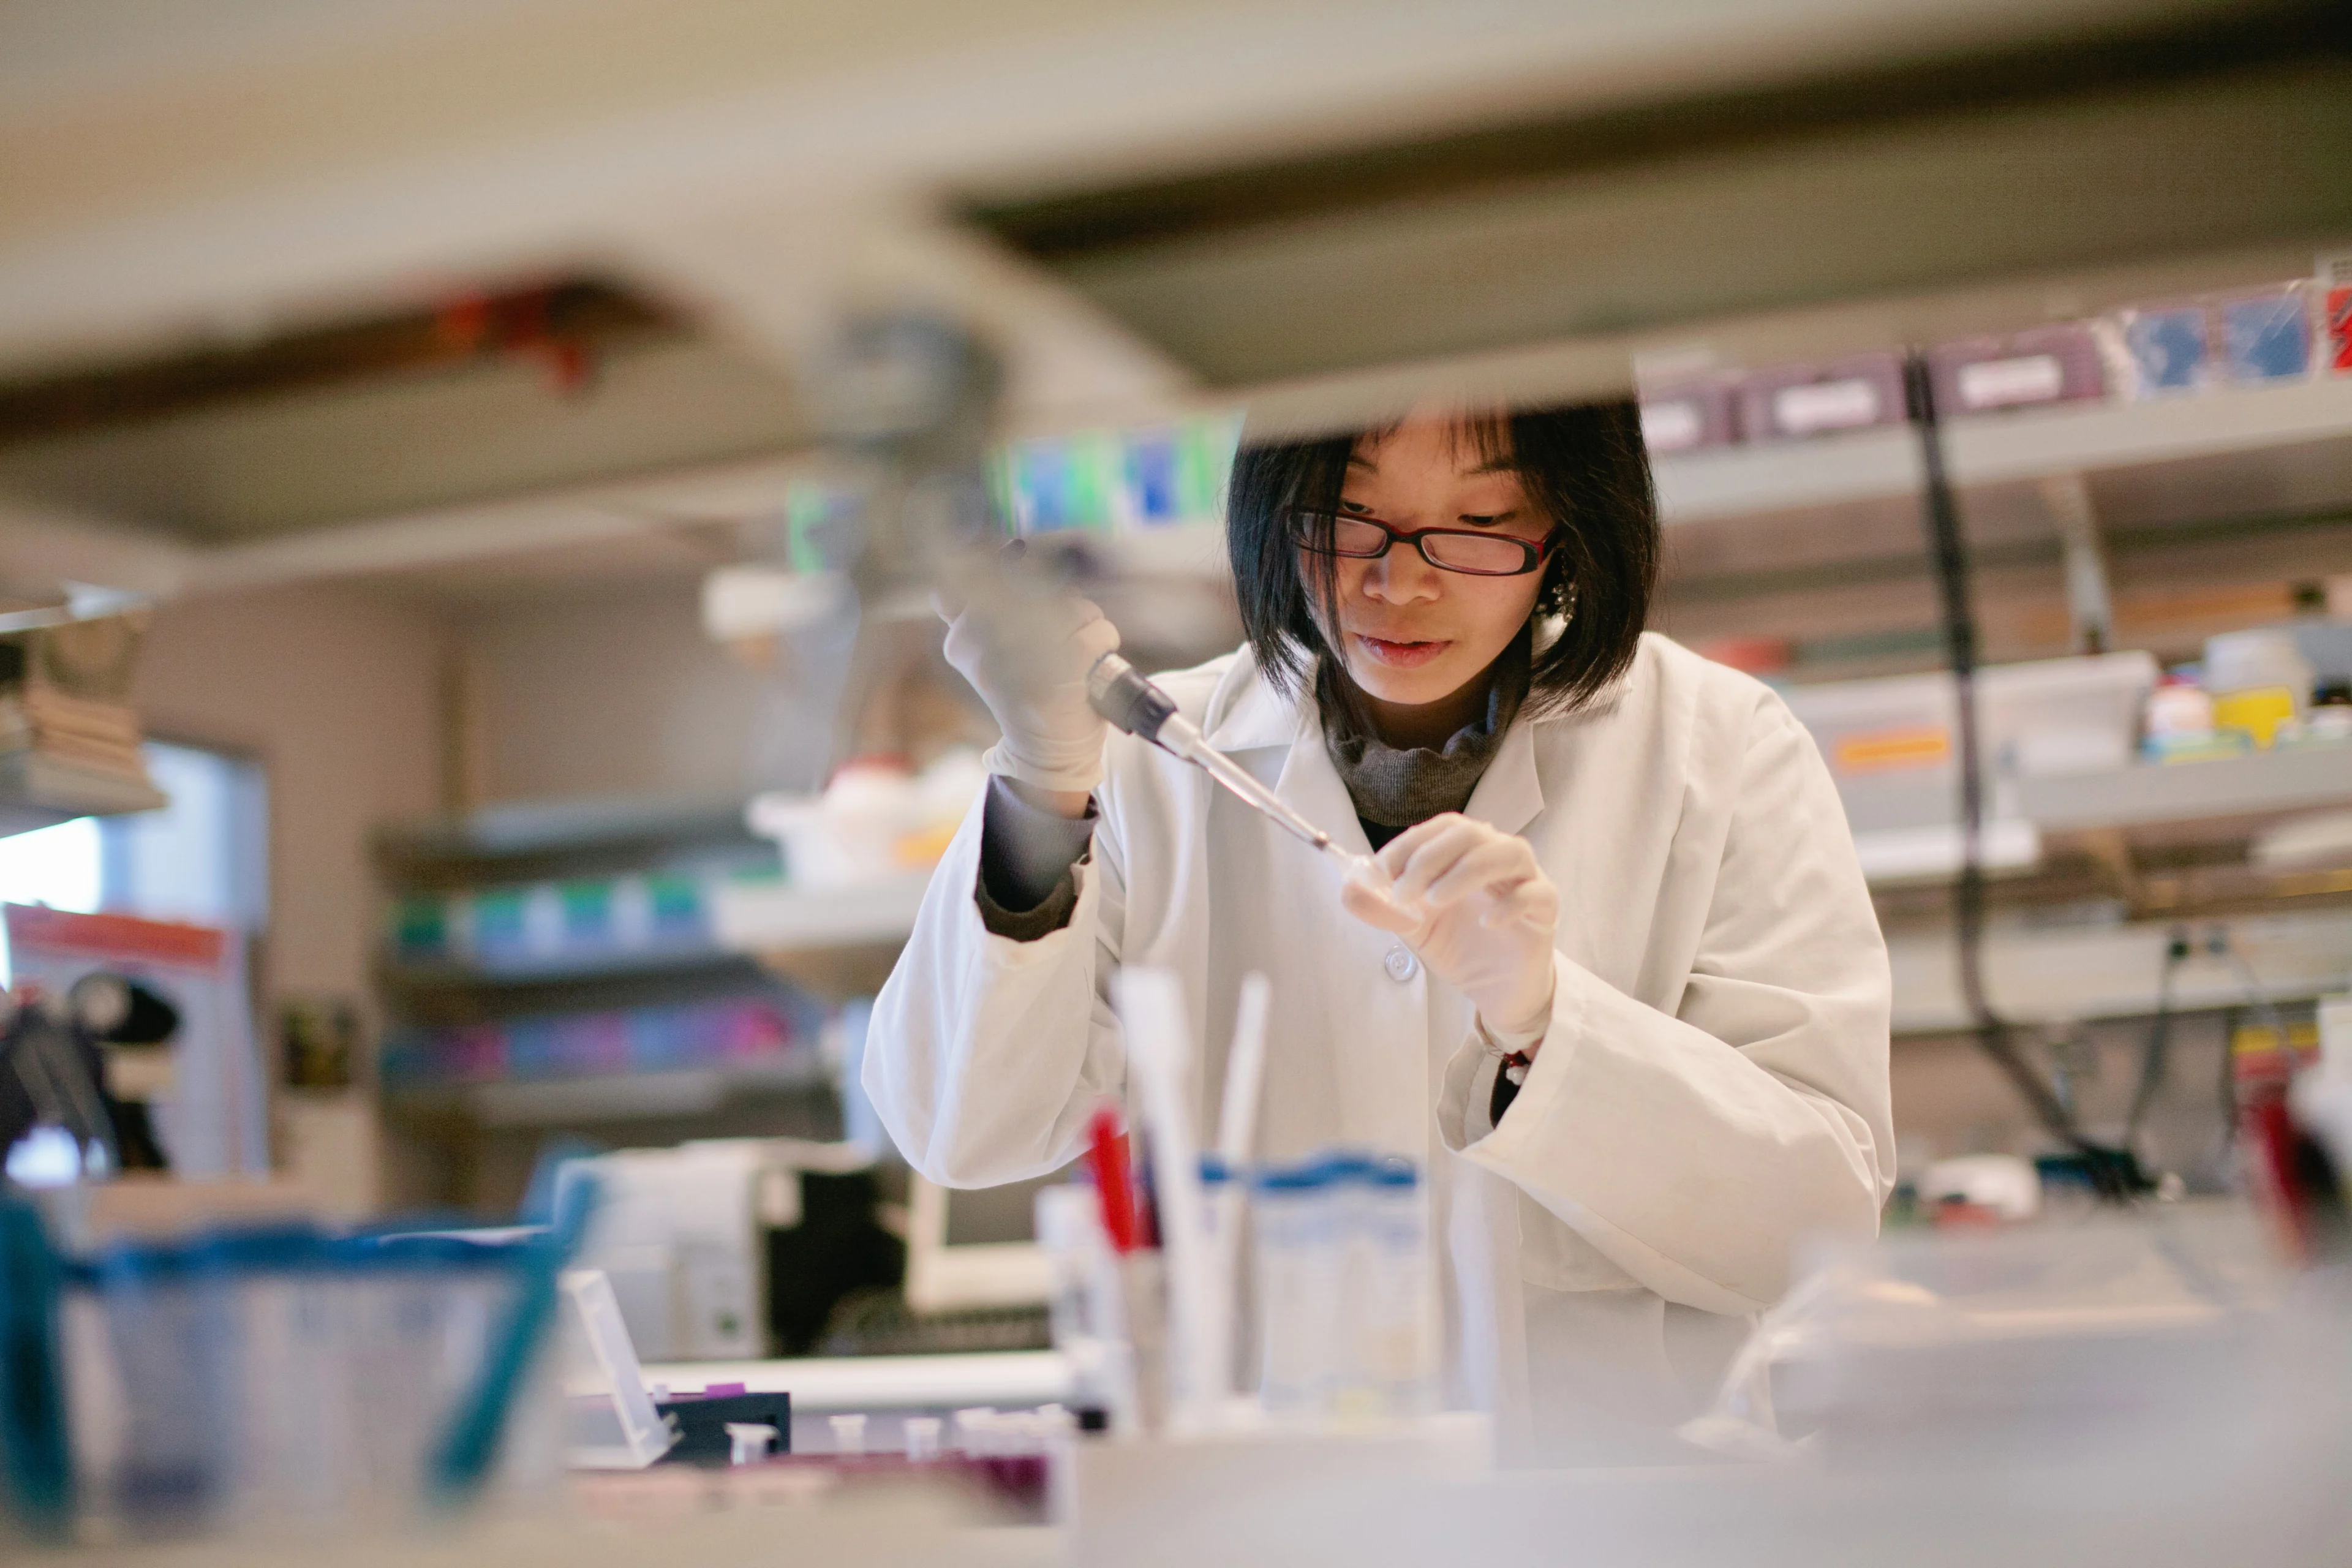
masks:
<path id="1" fill-rule="evenodd" d="M 1244 449 L 1228 545 L 1249 644 L 1160 684 L 1411 912 L 1108 733 L 1091 604 L 1042 682 L 962 614 L 1004 741 L 875 1004 L 884 1126 L 957 1187 L 1070 1161 L 1127 1081 L 1120 964 L 1207 1020 L 1207 1121 L 1265 971 L 1256 1152 L 1423 1161 L 1449 1403 L 1536 1462 L 1689 1458 L 1792 1248 L 1875 1234 L 1893 1180 L 1886 950 L 1811 738 L 1642 632 L 1630 407 Z"/>

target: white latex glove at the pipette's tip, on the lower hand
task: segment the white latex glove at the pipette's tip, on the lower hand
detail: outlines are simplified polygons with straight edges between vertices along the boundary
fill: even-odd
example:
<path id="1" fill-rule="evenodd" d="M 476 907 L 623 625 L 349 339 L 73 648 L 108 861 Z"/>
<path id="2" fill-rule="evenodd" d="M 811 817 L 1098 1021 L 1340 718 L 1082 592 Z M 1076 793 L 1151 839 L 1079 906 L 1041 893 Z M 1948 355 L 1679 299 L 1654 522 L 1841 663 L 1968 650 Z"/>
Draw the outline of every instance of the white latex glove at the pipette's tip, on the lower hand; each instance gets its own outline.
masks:
<path id="1" fill-rule="evenodd" d="M 1559 889 L 1526 839 L 1446 811 L 1378 853 L 1383 896 L 1341 884 L 1341 905 L 1395 931 L 1439 980 L 1470 997 L 1491 1034 L 1541 1034 L 1552 1016 L 1552 931 Z"/>

